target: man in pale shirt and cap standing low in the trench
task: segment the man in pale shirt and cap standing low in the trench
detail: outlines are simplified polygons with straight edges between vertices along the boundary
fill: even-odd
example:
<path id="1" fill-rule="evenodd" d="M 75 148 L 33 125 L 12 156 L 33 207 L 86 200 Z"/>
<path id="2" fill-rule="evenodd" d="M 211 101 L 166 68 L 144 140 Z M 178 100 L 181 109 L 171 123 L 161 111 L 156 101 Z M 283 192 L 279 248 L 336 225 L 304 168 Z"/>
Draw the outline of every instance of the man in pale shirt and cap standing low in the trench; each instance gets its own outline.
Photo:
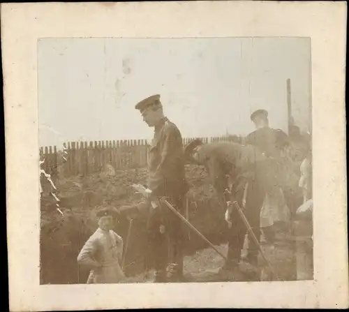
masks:
<path id="1" fill-rule="evenodd" d="M 91 269 L 87 283 L 120 283 L 125 279 L 120 267 L 124 242 L 112 230 L 117 211 L 107 207 L 96 216 L 98 229 L 82 247 L 77 263 Z"/>

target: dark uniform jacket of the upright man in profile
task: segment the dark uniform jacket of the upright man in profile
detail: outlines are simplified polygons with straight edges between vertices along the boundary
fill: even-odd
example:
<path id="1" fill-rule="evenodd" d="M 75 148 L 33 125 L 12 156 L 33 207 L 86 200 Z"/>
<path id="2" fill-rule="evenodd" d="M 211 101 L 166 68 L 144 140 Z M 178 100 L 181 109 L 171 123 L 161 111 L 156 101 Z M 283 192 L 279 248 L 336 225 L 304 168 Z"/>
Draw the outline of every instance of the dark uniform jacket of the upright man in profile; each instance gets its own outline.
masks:
<path id="1" fill-rule="evenodd" d="M 148 165 L 147 186 L 154 195 L 180 196 L 188 191 L 181 133 L 167 118 L 154 129 Z"/>

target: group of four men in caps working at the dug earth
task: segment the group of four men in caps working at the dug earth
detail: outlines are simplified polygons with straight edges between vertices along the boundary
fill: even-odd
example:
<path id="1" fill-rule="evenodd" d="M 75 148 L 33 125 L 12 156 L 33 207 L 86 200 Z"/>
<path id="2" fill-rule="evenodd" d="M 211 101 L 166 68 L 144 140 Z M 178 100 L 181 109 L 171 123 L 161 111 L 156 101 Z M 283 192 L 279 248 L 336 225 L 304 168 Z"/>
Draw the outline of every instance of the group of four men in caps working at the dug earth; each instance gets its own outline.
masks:
<path id="1" fill-rule="evenodd" d="M 189 190 L 185 175 L 186 163 L 205 166 L 222 211 L 225 212 L 222 218 L 225 216 L 229 223 L 228 257 L 221 272 L 238 270 L 247 229 L 236 209 L 232 209 L 229 203 L 237 202 L 243 208 L 258 242 L 261 235 L 261 209 L 266 198 L 269 196 L 270 200 L 273 196 L 273 188 L 285 193 L 285 202 L 289 208 L 298 205 L 292 203 L 292 187 L 284 187 L 287 184 L 285 181 L 290 181 L 292 175 L 290 170 L 285 177 L 283 154 L 289 146 L 288 135 L 270 128 L 267 111 L 257 110 L 251 114 L 256 130 L 247 136 L 244 144 L 203 144 L 200 140 L 194 140 L 184 148 L 179 129 L 165 117 L 160 95 L 145 98 L 135 105 L 135 109 L 140 111 L 148 126 L 154 127 L 147 176 L 147 188 L 151 193 L 139 205 L 117 209 L 107 207 L 98 211 L 98 230 L 84 244 L 77 257 L 80 265 L 87 265 L 91 269 L 88 283 L 128 281 L 121 267 L 123 239 L 112 230 L 113 218 L 120 214 L 147 216 L 148 246 L 145 259 L 147 272 L 154 273 L 152 281 L 187 281 L 184 276 L 186 225 L 168 207 L 151 205 L 158 198 L 166 198 L 184 216 L 186 193 Z M 302 183 L 303 188 L 308 185 L 304 181 Z M 258 267 L 258 246 L 251 240 L 248 241 L 248 253 L 244 261 Z M 168 274 L 169 267 L 171 274 Z"/>

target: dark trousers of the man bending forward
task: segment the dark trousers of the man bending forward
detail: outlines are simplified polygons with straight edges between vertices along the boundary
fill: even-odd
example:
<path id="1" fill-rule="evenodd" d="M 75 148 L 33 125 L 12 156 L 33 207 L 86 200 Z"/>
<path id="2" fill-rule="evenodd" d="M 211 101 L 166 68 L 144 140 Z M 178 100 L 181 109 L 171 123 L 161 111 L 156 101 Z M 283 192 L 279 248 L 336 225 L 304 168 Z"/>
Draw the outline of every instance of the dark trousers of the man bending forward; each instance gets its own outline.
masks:
<path id="1" fill-rule="evenodd" d="M 260 211 L 265 199 L 265 188 L 258 183 L 258 180 L 249 181 L 246 193 L 246 205 L 242 209 L 248 223 L 260 242 Z M 237 202 L 242 208 L 242 198 L 243 194 L 239 193 L 237 195 Z M 246 225 L 239 216 L 237 209 L 232 210 L 231 214 L 232 227 L 230 228 L 228 235 L 228 261 L 229 262 L 239 262 L 241 257 L 241 251 L 244 247 L 244 238 L 247 232 Z M 248 257 L 257 257 L 258 246 L 253 241 L 251 235 L 248 235 Z"/>

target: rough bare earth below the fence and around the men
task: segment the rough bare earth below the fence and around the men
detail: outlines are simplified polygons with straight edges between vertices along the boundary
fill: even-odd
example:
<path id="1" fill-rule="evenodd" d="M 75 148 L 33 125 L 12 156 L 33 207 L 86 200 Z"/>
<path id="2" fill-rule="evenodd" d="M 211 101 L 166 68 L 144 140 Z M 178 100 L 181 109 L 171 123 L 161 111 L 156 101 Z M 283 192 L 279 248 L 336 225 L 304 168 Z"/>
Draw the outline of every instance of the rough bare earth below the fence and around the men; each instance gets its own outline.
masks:
<path id="1" fill-rule="evenodd" d="M 57 202 L 50 194 L 50 184 L 43 185 L 41 198 L 40 232 L 40 279 L 42 284 L 86 283 L 88 272 L 77 267 L 77 254 L 89 235 L 96 230 L 95 212 L 99 205 L 107 203 L 118 207 L 136 203 L 140 195 L 135 194 L 132 184 L 144 184 L 146 170 L 130 169 L 115 174 L 89 174 L 87 176 L 59 178 L 56 195 L 64 217 L 57 211 Z M 188 193 L 189 221 L 213 244 L 226 253 L 223 211 L 218 208 L 214 191 L 209 186 L 206 172 L 189 165 L 186 177 L 191 183 Z M 145 237 L 144 221 L 135 221 L 126 253 L 125 269 L 128 276 L 138 276 L 143 271 Z M 119 219 L 115 231 L 124 238 L 128 233 L 128 220 Z M 263 244 L 267 259 L 272 262 L 279 279 L 295 280 L 295 260 L 292 246 L 280 232 L 275 247 Z M 216 271 L 223 265 L 221 255 L 208 248 L 202 239 L 191 232 L 186 246 L 184 270 L 190 281 L 218 281 Z M 242 265 L 242 270 L 244 270 Z M 246 280 L 246 278 L 242 278 Z"/>

